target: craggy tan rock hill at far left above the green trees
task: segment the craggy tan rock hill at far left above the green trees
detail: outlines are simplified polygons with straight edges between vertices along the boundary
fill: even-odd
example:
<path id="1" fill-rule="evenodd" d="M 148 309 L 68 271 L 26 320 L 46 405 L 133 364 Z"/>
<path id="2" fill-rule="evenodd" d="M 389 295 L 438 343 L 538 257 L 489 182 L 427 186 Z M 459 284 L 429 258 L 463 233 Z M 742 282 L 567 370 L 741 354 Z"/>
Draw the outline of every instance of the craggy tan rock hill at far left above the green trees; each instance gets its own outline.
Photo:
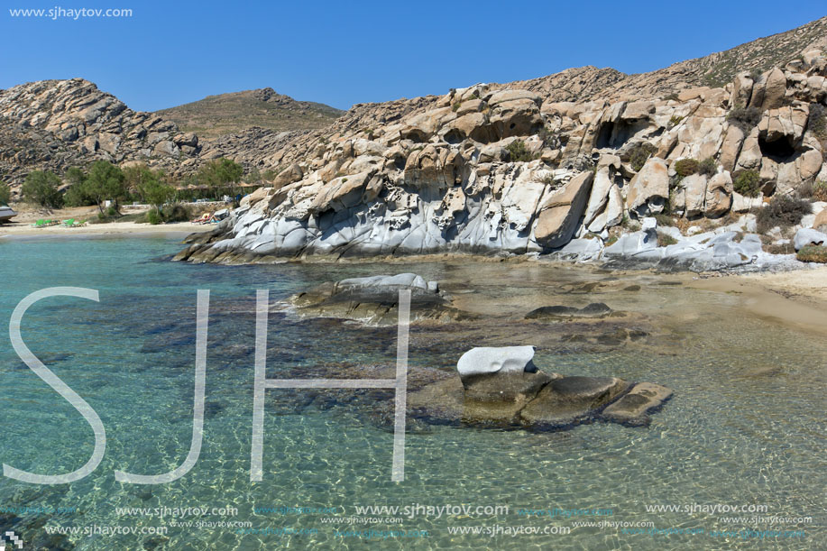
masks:
<path id="1" fill-rule="evenodd" d="M 97 159 L 145 161 L 170 174 L 198 165 L 198 136 L 133 111 L 83 78 L 0 91 L 0 173 L 18 184 L 32 170 L 62 173 Z"/>

